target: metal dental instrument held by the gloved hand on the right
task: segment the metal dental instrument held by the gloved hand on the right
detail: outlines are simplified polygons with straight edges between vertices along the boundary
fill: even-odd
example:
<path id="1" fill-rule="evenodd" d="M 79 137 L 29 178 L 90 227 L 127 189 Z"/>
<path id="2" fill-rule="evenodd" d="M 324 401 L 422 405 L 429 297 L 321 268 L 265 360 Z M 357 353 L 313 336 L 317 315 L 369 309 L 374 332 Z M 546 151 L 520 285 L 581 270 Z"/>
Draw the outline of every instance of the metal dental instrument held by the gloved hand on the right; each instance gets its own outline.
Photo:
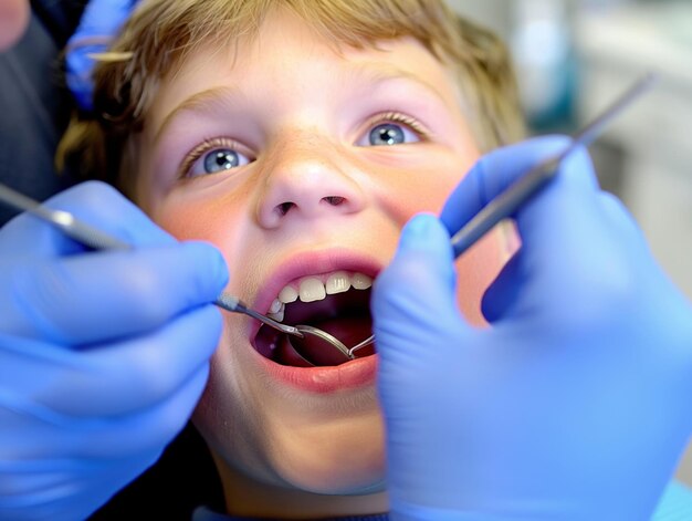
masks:
<path id="1" fill-rule="evenodd" d="M 653 73 L 646 74 L 637 81 L 623 94 L 621 94 L 611 105 L 606 107 L 591 123 L 573 136 L 572 144 L 559 154 L 541 161 L 531 168 L 526 174 L 516 179 L 502 194 L 485 205 L 473 218 L 468 221 L 451 239 L 454 259 L 475 244 L 485 233 L 487 233 L 501 220 L 511 217 L 522 205 L 533 198 L 548 181 L 557 176 L 559 165 L 569 155 L 581 146 L 590 145 L 600 134 L 608 123 L 620 115 L 625 108 L 630 106 L 636 100 L 644 94 L 656 83 L 657 76 Z M 354 358 L 354 353 L 375 341 L 371 335 L 348 350 L 348 357 Z"/>

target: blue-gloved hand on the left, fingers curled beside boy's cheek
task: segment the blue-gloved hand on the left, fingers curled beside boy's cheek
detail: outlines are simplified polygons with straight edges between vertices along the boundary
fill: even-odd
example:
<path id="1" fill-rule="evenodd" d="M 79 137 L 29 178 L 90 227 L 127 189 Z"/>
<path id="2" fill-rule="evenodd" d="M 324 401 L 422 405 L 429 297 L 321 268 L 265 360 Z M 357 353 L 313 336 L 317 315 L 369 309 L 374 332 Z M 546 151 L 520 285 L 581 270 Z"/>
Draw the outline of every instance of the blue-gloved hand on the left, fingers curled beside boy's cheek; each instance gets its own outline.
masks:
<path id="1" fill-rule="evenodd" d="M 22 215 L 0 230 L 0 519 L 85 519 L 154 463 L 207 381 L 227 282 L 99 183 L 49 201 L 136 244 L 88 252 Z"/>

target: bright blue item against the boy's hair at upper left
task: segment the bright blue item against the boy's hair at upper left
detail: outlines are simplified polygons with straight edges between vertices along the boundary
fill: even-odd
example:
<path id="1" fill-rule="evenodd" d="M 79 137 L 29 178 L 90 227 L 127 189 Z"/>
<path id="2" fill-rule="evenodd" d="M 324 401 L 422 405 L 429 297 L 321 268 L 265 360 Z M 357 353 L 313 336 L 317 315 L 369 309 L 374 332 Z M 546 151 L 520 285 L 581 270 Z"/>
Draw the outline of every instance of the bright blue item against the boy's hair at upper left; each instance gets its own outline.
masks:
<path id="1" fill-rule="evenodd" d="M 139 0 L 91 0 L 77 30 L 69 40 L 65 56 L 66 82 L 77 106 L 83 111 L 91 111 L 93 107 L 92 72 L 95 61 L 90 54 L 108 49 L 138 2 Z"/>

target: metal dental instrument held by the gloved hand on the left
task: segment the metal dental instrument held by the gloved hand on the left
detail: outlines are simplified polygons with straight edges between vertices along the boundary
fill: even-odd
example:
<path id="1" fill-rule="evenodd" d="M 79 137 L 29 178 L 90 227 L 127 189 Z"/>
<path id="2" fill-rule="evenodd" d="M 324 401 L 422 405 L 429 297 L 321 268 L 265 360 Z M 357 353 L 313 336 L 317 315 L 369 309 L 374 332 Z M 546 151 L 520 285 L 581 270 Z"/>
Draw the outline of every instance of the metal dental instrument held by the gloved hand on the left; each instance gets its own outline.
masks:
<path id="1" fill-rule="evenodd" d="M 20 194 L 11 189 L 10 187 L 0 183 L 0 201 L 11 206 L 18 210 L 27 211 L 46 222 L 50 222 L 55 228 L 57 228 L 62 233 L 74 239 L 75 241 L 84 244 L 94 250 L 130 250 L 133 247 L 127 242 L 122 241 L 120 239 L 109 236 L 102 230 L 94 228 L 93 226 L 81 221 L 76 217 L 74 217 L 69 211 L 64 210 L 53 210 L 41 205 L 39 201 Z M 281 322 L 276 322 L 275 320 L 270 319 L 269 316 L 264 316 L 261 313 L 248 308 L 238 296 L 231 295 L 229 293 L 221 293 L 217 300 L 213 302 L 216 305 L 226 311 L 231 311 L 234 313 L 244 313 L 253 319 L 259 320 L 263 324 L 269 325 L 270 327 L 274 327 L 275 330 L 281 331 L 282 333 L 286 333 L 290 335 L 298 336 L 303 338 L 305 335 L 304 332 L 308 334 L 311 332 L 305 331 L 303 329 L 298 329 L 301 326 L 293 326 L 282 324 Z M 333 341 L 331 338 L 325 338 L 319 335 L 323 340 L 327 342 Z M 331 336 L 331 335 L 328 335 Z M 332 337 L 334 338 L 334 337 Z M 334 338 L 338 342 L 336 338 Z M 338 342 L 344 350 L 348 351 L 347 347 L 344 346 L 340 342 Z M 344 352 L 338 345 L 334 344 L 336 348 Z"/>

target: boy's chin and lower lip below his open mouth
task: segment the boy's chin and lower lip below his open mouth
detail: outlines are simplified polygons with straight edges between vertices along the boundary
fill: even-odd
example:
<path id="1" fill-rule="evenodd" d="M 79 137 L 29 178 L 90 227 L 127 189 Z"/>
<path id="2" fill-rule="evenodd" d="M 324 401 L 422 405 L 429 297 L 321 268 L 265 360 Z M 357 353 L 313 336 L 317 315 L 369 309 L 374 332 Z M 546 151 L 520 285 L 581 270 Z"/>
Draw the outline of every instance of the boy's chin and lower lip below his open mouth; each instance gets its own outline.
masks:
<path id="1" fill-rule="evenodd" d="M 357 496 L 384 490 L 377 355 L 352 364 L 352 369 L 339 366 L 354 372 L 347 385 L 335 384 L 329 375 L 319 378 L 334 367 L 286 367 L 310 374 L 295 382 L 283 367 L 279 377 L 268 371 L 274 362 L 247 341 L 234 340 L 235 348 L 224 344 L 214 354 L 193 416 L 221 475 L 284 492 Z"/>

